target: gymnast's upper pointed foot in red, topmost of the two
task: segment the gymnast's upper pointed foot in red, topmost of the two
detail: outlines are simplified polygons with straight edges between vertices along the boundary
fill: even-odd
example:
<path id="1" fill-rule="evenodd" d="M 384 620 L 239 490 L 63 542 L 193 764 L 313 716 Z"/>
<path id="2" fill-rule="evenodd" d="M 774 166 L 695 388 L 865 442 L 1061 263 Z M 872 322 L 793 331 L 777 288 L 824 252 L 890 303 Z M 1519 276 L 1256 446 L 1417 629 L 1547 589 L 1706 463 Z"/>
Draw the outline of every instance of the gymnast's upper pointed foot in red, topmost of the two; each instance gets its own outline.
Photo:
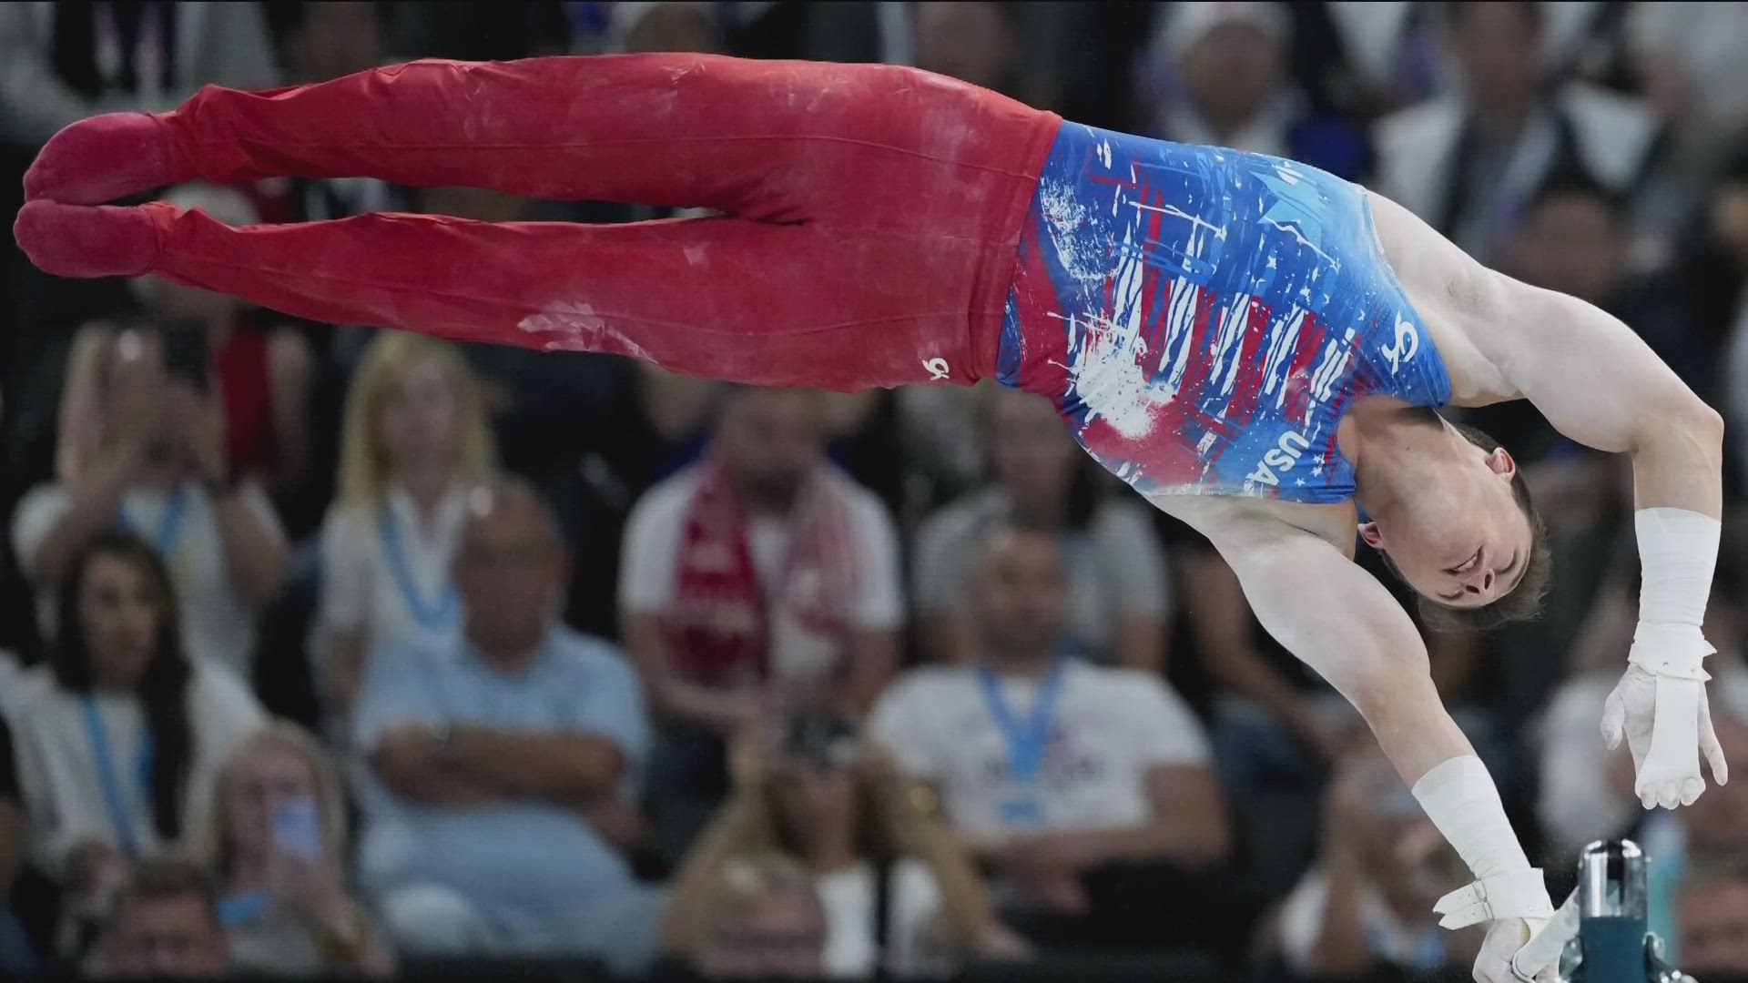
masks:
<path id="1" fill-rule="evenodd" d="M 24 199 L 101 205 L 173 184 L 164 126 L 143 112 L 105 112 L 61 128 L 24 171 Z"/>

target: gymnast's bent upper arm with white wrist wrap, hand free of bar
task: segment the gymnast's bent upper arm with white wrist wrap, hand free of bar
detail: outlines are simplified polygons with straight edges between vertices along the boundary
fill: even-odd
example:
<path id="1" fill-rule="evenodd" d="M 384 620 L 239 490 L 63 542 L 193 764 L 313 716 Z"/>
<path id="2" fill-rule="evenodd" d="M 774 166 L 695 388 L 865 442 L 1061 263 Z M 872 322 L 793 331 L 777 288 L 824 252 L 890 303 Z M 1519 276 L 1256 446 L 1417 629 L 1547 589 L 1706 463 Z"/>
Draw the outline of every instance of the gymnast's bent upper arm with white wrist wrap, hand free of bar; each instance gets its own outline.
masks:
<path id="1" fill-rule="evenodd" d="M 1718 558 L 1724 422 L 1613 315 L 1488 269 L 1400 205 L 1372 196 L 1377 233 L 1421 315 L 1456 325 L 1491 369 L 1496 399 L 1528 399 L 1561 434 L 1633 460 L 1638 630 L 1603 738 L 1633 750 L 1645 808 L 1692 803 L 1704 752 L 1729 780 L 1711 729 L 1701 633 Z"/>

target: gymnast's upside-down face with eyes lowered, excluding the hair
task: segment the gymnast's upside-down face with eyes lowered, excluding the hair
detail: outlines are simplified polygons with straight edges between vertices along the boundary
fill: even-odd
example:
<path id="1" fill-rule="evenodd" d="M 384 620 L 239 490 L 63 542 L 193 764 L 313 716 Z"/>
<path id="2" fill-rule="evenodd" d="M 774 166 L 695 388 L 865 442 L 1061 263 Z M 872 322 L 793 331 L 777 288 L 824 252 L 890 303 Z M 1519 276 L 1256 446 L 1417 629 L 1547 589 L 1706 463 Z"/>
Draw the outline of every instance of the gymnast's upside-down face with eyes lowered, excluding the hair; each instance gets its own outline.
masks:
<path id="1" fill-rule="evenodd" d="M 1517 586 L 1535 542 L 1512 495 L 1512 455 L 1453 437 L 1456 453 L 1425 462 L 1416 493 L 1372 514 L 1360 539 L 1416 593 L 1446 607 L 1482 607 Z"/>

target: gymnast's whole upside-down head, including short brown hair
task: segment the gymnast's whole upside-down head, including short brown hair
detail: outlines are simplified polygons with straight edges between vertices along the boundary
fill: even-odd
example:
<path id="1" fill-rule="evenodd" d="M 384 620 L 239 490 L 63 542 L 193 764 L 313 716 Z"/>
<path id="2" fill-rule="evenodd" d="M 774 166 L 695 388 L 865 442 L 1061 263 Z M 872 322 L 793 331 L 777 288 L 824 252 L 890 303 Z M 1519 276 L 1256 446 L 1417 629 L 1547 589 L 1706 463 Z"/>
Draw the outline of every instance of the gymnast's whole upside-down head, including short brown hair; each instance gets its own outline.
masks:
<path id="1" fill-rule="evenodd" d="M 1439 418 L 1412 453 L 1412 492 L 1367 500 L 1360 539 L 1419 595 L 1432 628 L 1495 628 L 1535 617 L 1552 556 L 1517 462 L 1498 441 Z"/>

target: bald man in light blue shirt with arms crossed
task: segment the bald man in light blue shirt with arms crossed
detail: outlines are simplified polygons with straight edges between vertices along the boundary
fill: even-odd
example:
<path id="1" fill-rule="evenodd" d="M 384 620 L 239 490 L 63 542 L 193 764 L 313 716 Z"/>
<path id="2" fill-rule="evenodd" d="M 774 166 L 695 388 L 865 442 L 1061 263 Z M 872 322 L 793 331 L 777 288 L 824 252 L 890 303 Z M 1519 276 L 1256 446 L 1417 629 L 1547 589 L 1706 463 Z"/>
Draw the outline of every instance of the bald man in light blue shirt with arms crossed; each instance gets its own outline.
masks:
<path id="1" fill-rule="evenodd" d="M 649 750 L 636 673 L 556 623 L 568 558 L 545 504 L 470 497 L 447 647 L 372 652 L 355 715 L 367 756 L 360 883 L 413 953 L 656 950 L 659 896 L 612 841 Z"/>

